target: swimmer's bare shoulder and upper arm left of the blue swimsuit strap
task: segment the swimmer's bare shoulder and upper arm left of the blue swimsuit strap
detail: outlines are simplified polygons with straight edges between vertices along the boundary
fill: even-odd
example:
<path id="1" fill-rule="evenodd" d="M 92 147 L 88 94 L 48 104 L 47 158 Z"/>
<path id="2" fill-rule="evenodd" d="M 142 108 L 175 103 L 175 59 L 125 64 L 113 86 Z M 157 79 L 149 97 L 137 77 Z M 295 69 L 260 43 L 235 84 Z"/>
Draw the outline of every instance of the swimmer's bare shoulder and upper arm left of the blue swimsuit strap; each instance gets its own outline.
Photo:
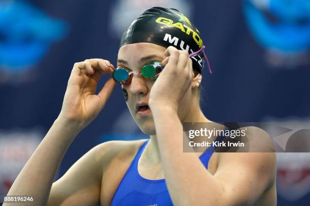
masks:
<path id="1" fill-rule="evenodd" d="M 111 198 L 109 192 L 122 178 L 120 171 L 125 171 L 144 141 L 108 141 L 93 147 L 53 183 L 48 205 L 96 205 Z"/>

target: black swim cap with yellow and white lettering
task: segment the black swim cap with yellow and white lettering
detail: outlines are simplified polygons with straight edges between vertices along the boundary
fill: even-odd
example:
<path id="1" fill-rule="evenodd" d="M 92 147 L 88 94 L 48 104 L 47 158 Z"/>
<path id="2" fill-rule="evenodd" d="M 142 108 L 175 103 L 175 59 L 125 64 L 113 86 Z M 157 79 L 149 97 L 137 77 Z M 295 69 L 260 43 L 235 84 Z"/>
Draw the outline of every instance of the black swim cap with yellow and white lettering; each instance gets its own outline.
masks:
<path id="1" fill-rule="evenodd" d="M 121 45 L 148 42 L 164 47 L 174 46 L 189 54 L 203 47 L 198 29 L 176 9 L 152 7 L 144 11 L 125 30 Z M 203 52 L 191 57 L 193 69 L 202 72 L 206 58 Z M 211 70 L 210 70 L 211 71 Z"/>

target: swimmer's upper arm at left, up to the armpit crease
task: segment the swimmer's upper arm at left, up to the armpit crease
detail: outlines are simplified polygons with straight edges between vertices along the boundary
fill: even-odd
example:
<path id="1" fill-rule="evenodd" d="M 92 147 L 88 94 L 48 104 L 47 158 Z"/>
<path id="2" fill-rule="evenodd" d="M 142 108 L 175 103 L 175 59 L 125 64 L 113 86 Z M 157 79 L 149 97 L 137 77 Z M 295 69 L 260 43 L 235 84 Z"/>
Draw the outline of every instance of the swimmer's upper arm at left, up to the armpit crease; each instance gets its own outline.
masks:
<path id="1" fill-rule="evenodd" d="M 105 154 L 109 142 L 95 146 L 56 182 L 48 205 L 98 205 Z"/>

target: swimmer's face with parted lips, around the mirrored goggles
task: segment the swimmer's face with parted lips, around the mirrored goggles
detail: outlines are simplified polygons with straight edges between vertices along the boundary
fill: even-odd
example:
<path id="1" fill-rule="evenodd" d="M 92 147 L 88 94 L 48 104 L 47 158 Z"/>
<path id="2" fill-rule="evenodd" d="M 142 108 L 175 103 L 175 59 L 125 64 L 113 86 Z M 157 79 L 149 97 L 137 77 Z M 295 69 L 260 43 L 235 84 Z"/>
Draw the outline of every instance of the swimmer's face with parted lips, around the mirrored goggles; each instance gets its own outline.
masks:
<path id="1" fill-rule="evenodd" d="M 124 65 L 132 71 L 141 72 L 141 68 L 148 62 L 162 62 L 166 58 L 165 50 L 165 47 L 153 43 L 127 44 L 119 50 L 118 65 Z M 126 90 L 124 92 L 127 92 L 128 95 L 126 103 L 129 111 L 141 131 L 147 135 L 156 134 L 152 113 L 148 107 L 139 107 L 139 104 L 148 105 L 149 93 L 153 83 L 154 81 L 144 79 L 141 74 L 134 74 L 130 84 L 122 85 L 123 90 Z M 173 84 L 173 80 L 171 84 Z M 192 105 L 195 103 L 191 88 L 189 87 L 179 104 L 178 116 L 181 121 L 190 114 Z"/>

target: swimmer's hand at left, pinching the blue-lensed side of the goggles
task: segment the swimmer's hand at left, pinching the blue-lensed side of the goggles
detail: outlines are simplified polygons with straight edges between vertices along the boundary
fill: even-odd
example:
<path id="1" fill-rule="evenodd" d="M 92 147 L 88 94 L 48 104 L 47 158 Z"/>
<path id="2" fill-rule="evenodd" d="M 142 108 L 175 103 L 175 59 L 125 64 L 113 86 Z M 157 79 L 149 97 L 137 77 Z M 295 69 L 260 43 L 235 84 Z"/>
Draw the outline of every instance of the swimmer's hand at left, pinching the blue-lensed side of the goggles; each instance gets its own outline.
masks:
<path id="1" fill-rule="evenodd" d="M 113 65 L 103 59 L 75 63 L 58 119 L 78 124 L 81 129 L 93 121 L 105 106 L 117 82 L 113 78 L 108 79 L 96 94 L 97 83 L 101 75 L 112 75 L 113 69 Z"/>

